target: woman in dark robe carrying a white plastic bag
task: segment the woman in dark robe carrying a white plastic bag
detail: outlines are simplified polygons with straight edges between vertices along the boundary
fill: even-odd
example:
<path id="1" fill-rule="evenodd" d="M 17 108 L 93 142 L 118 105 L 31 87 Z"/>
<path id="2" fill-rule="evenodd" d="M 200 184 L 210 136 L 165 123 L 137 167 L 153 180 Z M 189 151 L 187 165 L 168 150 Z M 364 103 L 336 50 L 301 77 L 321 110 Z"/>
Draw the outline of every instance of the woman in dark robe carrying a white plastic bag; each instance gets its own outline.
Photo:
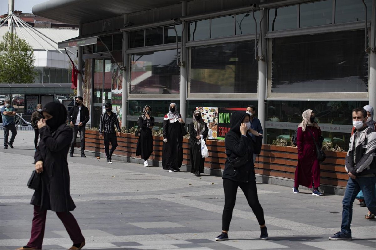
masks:
<path id="1" fill-rule="evenodd" d="M 201 136 L 206 141 L 208 136 L 208 126 L 201 117 L 200 110 L 193 112 L 193 122 L 190 123 L 190 160 L 191 160 L 191 173 L 196 176 L 201 176 L 200 173 L 204 172 L 205 158 L 201 156 L 201 144 L 197 144 L 201 140 Z"/>

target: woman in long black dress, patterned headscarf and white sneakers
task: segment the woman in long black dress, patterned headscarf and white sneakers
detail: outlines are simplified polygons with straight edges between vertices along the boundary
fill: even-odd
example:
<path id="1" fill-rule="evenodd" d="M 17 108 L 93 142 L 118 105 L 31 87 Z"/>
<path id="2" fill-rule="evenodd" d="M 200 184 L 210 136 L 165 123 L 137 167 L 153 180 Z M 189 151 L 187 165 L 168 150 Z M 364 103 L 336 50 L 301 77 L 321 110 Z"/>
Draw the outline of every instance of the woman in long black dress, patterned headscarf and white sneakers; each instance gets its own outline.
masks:
<path id="1" fill-rule="evenodd" d="M 149 159 L 153 152 L 152 127 L 154 126 L 154 117 L 150 115 L 151 112 L 152 108 L 146 105 L 137 120 L 141 135 L 137 141 L 136 155 L 141 155 L 141 158 L 144 160 L 144 167 L 149 167 L 147 159 Z"/>

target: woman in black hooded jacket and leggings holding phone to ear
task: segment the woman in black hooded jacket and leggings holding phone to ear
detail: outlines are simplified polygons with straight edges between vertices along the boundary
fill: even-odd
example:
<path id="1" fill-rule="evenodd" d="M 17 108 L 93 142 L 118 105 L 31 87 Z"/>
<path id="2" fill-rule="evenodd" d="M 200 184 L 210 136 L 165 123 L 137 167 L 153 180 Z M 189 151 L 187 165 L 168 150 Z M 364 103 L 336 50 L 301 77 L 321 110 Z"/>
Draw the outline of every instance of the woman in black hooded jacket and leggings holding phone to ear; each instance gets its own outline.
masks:
<path id="1" fill-rule="evenodd" d="M 263 240 L 268 239 L 268 230 L 265 226 L 264 210 L 262 209 L 256 187 L 255 169 L 253 164 L 253 152 L 261 148 L 262 137 L 252 130 L 249 122 L 250 115 L 244 111 L 235 111 L 231 116 L 231 128 L 226 134 L 224 144 L 227 160 L 223 171 L 224 208 L 222 214 L 222 233 L 215 238 L 216 241 L 229 239 L 228 230 L 235 206 L 238 187 L 241 188 L 249 206 L 252 208 L 260 225 Z M 253 142 L 252 136 L 256 141 Z M 242 158 L 241 163 L 236 164 Z"/>

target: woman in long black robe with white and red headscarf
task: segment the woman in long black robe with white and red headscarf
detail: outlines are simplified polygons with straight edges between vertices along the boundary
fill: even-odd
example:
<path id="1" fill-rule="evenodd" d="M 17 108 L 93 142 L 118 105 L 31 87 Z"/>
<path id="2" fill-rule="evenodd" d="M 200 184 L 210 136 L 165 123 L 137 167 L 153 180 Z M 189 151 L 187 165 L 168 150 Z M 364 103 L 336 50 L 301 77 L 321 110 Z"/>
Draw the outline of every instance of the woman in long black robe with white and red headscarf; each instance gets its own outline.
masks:
<path id="1" fill-rule="evenodd" d="M 180 171 L 183 163 L 184 120 L 177 111 L 176 103 L 170 104 L 170 110 L 163 120 L 162 167 L 169 172 Z"/>

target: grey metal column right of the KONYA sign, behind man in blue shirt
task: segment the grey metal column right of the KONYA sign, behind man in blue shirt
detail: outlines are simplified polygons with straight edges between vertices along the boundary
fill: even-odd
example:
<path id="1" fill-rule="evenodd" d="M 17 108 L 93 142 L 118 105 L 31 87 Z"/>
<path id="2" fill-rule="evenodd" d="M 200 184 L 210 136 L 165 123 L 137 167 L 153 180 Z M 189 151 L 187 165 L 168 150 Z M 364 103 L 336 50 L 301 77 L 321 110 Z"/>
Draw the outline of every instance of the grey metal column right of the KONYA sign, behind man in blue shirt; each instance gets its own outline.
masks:
<path id="1" fill-rule="evenodd" d="M 266 15 L 267 10 L 260 10 L 264 11 L 264 15 Z M 261 22 L 260 34 L 265 34 L 267 28 L 267 18 L 264 18 Z M 264 39 L 262 36 L 259 36 L 260 42 L 261 39 Z M 264 44 L 266 44 L 267 40 L 264 39 Z M 259 55 L 266 55 L 266 47 L 264 46 L 263 51 L 261 51 L 261 46 L 259 46 Z M 265 56 L 265 59 L 268 57 Z M 265 135 L 265 100 L 267 99 L 266 95 L 266 84 L 267 84 L 267 72 L 266 72 L 266 63 L 267 60 L 259 60 L 258 61 L 258 68 L 259 68 L 259 75 L 258 75 L 258 111 L 257 111 L 257 118 L 261 122 L 262 129 L 264 130 Z M 262 139 L 262 143 L 265 143 L 265 136 Z"/>

